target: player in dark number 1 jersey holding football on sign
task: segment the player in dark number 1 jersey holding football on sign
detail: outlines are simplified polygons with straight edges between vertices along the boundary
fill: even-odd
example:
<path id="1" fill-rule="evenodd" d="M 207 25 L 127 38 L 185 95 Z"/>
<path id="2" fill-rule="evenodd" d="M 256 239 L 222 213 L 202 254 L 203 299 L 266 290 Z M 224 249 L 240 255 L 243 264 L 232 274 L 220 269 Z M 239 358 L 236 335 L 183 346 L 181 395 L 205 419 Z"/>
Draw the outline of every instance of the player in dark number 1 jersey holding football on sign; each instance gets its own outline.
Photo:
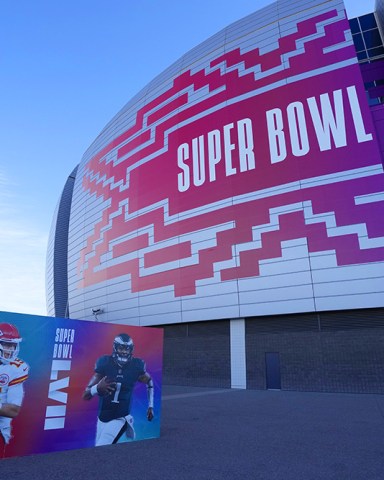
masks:
<path id="1" fill-rule="evenodd" d="M 130 414 L 133 389 L 136 382 L 147 385 L 147 419 L 154 418 L 153 380 L 146 371 L 145 362 L 133 356 L 133 340 L 126 333 L 117 335 L 112 355 L 103 355 L 96 361 L 95 373 L 83 393 L 84 400 L 99 397 L 99 413 L 95 445 L 117 443 L 125 435 L 134 440 L 133 417 Z"/>

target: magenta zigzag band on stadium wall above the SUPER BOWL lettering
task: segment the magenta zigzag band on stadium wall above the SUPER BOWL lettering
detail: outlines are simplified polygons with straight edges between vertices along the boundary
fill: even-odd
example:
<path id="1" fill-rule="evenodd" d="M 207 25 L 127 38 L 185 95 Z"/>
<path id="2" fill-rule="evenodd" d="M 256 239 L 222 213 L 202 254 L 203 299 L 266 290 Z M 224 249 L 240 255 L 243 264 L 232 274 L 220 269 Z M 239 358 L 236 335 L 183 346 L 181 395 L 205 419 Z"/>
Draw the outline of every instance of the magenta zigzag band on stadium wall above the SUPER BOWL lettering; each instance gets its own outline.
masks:
<path id="1" fill-rule="evenodd" d="M 340 24 L 344 27 L 340 29 Z M 242 54 L 237 48 L 211 62 L 210 68 L 196 73 L 187 71 L 175 78 L 172 88 L 149 102 L 137 112 L 136 124 L 95 155 L 87 165 L 84 188 L 101 196 L 109 196 L 104 187 L 121 187 L 127 180 L 127 170 L 143 158 L 150 160 L 162 151 L 167 132 L 177 123 L 193 121 L 212 108 L 224 108 L 228 99 L 262 90 L 290 77 L 352 59 L 352 40 L 345 44 L 345 17 L 336 11 L 326 12 L 298 24 L 297 32 L 279 40 L 279 48 L 260 54 L 258 48 Z M 324 49 L 341 44 L 343 48 L 324 54 Z M 305 45 L 305 49 L 303 49 Z M 284 58 L 290 61 L 284 62 Z M 241 68 L 241 67 L 244 68 Z M 215 68 L 216 67 L 216 68 Z M 258 72 L 258 73 L 255 73 Z M 190 96 L 207 89 L 208 96 L 190 103 Z M 173 115 L 171 115 L 173 114 Z M 114 152 L 111 156 L 111 152 Z M 108 178 L 100 162 L 114 160 L 113 180 Z M 105 182 L 105 183 L 104 183 Z M 97 187 L 95 185 L 97 184 Z M 96 187 L 96 188 L 95 188 Z"/>

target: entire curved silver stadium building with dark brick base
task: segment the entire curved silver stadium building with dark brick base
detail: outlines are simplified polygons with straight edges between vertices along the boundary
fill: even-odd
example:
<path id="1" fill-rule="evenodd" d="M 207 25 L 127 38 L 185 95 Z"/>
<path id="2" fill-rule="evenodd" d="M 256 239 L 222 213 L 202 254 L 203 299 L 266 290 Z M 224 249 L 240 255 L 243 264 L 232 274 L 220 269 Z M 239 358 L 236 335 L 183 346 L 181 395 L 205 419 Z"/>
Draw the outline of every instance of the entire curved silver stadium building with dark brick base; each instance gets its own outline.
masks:
<path id="1" fill-rule="evenodd" d="M 162 326 L 166 383 L 383 393 L 383 12 L 279 0 L 149 83 L 66 182 L 48 313 Z"/>

